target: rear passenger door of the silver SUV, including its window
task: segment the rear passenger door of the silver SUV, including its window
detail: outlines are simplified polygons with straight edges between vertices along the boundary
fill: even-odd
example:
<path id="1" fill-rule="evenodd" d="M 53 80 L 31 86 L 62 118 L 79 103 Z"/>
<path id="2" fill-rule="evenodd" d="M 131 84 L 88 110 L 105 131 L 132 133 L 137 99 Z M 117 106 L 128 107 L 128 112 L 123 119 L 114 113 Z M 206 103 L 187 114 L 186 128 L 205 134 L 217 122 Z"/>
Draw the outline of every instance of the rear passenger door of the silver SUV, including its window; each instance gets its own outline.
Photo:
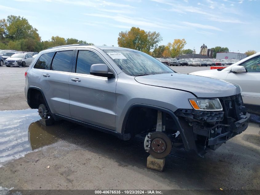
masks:
<path id="1" fill-rule="evenodd" d="M 69 77 L 75 50 L 58 50 L 40 79 L 51 113 L 70 117 Z"/>

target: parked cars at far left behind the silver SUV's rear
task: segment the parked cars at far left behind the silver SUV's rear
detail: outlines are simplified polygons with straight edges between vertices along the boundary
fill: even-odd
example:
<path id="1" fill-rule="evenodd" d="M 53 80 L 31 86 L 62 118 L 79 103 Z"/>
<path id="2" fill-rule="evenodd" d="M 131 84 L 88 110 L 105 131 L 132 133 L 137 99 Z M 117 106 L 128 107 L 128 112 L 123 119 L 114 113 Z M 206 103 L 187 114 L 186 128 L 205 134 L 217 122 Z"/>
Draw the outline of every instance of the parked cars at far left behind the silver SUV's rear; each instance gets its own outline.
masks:
<path id="1" fill-rule="evenodd" d="M 34 54 L 34 56 L 32 56 Z M 15 50 L 0 50 L 0 66 L 30 66 L 38 52 L 22 52 Z"/>

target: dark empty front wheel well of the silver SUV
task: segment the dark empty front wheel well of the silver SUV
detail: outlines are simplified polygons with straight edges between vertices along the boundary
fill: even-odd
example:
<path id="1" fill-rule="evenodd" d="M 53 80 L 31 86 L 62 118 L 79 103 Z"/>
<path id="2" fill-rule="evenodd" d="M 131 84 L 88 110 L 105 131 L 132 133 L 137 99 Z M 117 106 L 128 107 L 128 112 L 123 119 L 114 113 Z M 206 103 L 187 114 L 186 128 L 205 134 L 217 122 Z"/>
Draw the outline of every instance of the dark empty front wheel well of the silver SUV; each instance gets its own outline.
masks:
<path id="1" fill-rule="evenodd" d="M 131 137 L 139 133 L 152 132 L 156 129 L 158 110 L 146 107 L 134 107 L 127 118 L 124 133 L 130 133 Z M 162 112 L 163 125 L 166 125 L 167 133 L 176 133 L 177 126 L 172 117 Z"/>

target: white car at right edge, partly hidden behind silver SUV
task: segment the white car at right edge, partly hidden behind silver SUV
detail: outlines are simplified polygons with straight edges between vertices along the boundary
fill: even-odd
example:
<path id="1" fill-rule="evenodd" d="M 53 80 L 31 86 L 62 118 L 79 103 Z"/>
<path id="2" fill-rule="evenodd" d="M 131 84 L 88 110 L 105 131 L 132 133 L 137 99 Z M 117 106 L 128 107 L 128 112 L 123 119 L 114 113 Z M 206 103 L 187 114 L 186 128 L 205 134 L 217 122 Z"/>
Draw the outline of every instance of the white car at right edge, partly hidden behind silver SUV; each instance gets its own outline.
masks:
<path id="1" fill-rule="evenodd" d="M 260 106 L 260 52 L 223 69 L 197 71 L 189 75 L 222 79 L 238 84 L 242 88 L 244 104 Z"/>

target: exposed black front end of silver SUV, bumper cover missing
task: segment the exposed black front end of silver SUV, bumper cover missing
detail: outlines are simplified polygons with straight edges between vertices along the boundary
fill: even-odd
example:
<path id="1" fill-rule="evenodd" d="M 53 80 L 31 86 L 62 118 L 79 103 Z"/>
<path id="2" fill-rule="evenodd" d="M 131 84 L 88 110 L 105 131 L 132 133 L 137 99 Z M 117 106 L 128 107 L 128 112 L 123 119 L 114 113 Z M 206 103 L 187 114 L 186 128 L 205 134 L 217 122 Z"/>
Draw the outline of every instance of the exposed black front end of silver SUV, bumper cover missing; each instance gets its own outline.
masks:
<path id="1" fill-rule="evenodd" d="M 218 99 L 223 111 L 178 109 L 174 112 L 183 129 L 182 136 L 187 140 L 186 149 L 203 155 L 207 149 L 216 150 L 248 127 L 250 114 L 246 112 L 240 94 Z"/>

